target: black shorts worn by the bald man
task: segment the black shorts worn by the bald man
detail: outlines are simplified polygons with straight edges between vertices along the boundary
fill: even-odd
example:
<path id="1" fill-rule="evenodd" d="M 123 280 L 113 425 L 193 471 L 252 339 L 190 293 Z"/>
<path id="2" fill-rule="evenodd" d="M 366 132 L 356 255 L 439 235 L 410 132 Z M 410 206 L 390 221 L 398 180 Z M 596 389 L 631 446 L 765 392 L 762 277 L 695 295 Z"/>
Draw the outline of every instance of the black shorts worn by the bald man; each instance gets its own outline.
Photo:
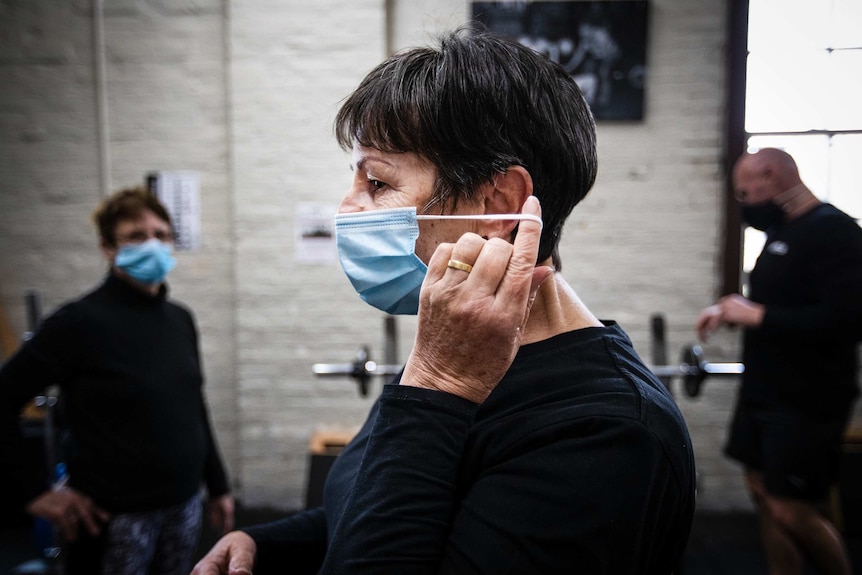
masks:
<path id="1" fill-rule="evenodd" d="M 850 406 L 812 418 L 784 406 L 738 400 L 724 452 L 763 475 L 777 497 L 823 501 L 838 481 Z"/>

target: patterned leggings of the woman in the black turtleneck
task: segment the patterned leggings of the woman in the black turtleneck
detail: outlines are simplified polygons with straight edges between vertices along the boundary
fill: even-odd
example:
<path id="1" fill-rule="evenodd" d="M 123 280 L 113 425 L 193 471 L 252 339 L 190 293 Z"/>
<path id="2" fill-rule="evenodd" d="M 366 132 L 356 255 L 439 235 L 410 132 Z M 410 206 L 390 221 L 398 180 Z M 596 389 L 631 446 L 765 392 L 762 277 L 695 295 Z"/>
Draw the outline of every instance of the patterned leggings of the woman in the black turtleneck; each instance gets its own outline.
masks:
<path id="1" fill-rule="evenodd" d="M 111 518 L 103 575 L 188 575 L 200 537 L 200 494 L 185 503 Z"/>

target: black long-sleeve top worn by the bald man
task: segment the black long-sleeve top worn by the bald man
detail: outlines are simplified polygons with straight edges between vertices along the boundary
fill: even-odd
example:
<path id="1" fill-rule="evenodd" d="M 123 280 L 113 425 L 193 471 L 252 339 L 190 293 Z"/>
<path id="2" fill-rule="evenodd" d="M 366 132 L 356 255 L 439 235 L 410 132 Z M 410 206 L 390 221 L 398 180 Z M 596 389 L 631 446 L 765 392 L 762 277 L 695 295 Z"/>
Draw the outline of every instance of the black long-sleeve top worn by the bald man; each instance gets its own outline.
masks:
<path id="1" fill-rule="evenodd" d="M 768 231 L 750 277 L 766 306 L 744 335 L 742 396 L 812 415 L 846 410 L 858 394 L 862 229 L 830 204 Z"/>

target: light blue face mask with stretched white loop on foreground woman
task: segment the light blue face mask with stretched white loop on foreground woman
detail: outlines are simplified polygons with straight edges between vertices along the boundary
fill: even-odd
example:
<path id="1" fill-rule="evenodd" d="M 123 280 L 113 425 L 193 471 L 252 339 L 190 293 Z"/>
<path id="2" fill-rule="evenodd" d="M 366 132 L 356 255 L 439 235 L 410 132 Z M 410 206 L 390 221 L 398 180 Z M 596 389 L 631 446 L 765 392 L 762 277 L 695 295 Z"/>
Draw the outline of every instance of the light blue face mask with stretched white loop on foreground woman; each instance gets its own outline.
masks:
<path id="1" fill-rule="evenodd" d="M 531 214 L 416 215 L 394 208 L 335 215 L 338 259 L 365 302 L 390 314 L 416 315 L 428 267 L 414 250 L 418 220 L 537 220 Z"/>

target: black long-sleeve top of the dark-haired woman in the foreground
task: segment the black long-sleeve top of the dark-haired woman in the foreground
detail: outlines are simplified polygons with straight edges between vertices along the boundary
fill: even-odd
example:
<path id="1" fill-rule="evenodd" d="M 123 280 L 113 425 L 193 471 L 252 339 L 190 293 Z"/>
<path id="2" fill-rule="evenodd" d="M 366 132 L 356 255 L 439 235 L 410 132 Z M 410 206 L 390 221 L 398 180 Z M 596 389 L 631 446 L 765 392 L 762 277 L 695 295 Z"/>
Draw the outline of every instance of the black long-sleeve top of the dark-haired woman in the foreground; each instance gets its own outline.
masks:
<path id="1" fill-rule="evenodd" d="M 255 573 L 670 573 L 685 423 L 617 326 L 523 346 L 481 405 L 387 385 L 324 505 L 246 528 Z"/>

